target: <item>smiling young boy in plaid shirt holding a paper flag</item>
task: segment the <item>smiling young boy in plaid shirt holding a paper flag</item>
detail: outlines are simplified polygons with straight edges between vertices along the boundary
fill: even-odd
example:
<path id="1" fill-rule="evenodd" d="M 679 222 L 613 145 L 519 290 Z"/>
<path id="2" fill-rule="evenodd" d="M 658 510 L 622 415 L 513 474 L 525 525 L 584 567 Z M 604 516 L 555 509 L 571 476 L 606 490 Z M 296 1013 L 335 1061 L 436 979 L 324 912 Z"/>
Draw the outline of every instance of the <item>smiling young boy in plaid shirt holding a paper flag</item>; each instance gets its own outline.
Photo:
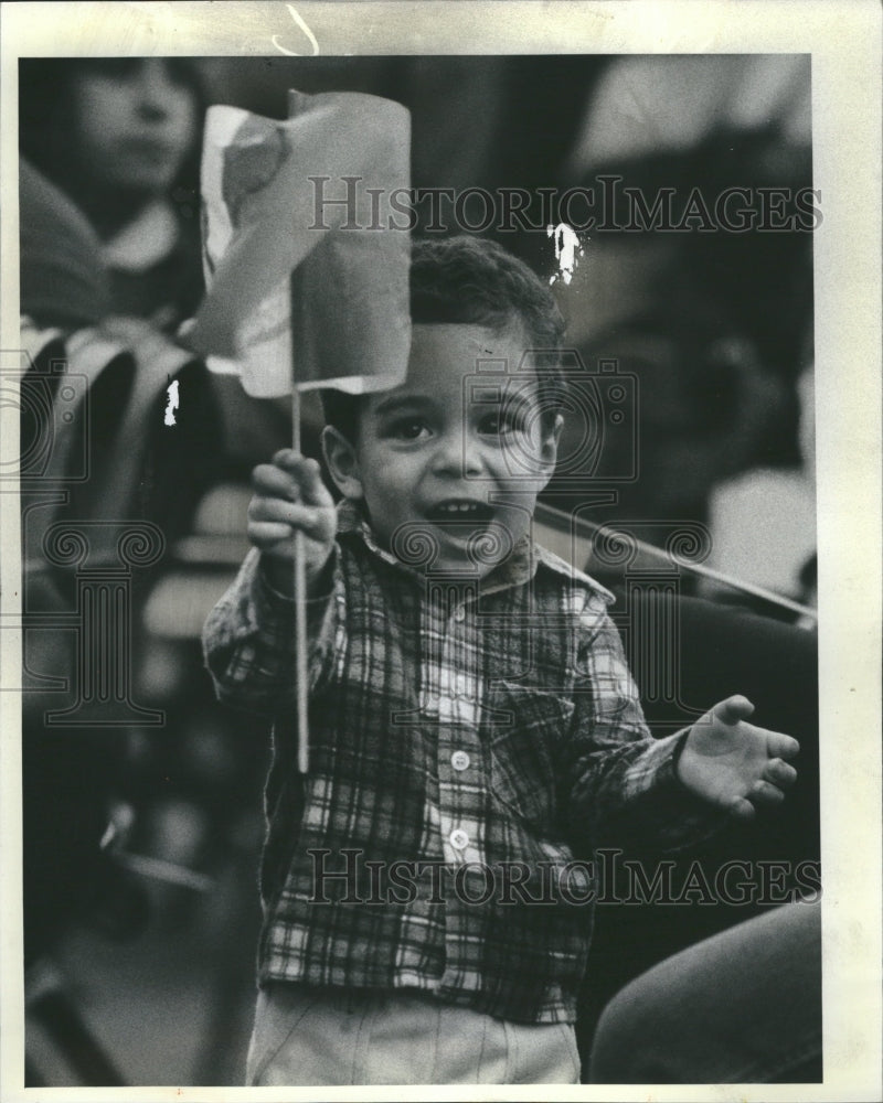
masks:
<path id="1" fill-rule="evenodd" d="M 412 320 L 404 384 L 326 396 L 337 510 L 315 461 L 255 470 L 254 548 L 206 623 L 221 698 L 277 720 L 248 1082 L 576 1083 L 575 855 L 753 815 L 797 742 L 743 697 L 652 739 L 610 596 L 532 543 L 562 428 L 563 322 L 536 277 L 488 242 L 418 244 Z"/>

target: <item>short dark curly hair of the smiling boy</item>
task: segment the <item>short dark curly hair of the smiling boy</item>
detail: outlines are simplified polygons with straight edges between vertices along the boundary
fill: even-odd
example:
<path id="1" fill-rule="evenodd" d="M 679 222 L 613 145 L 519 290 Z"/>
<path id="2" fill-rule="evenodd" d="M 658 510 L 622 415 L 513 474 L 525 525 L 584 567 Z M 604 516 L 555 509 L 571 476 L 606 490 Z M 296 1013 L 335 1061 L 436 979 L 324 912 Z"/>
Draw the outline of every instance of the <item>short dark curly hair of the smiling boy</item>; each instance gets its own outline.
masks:
<path id="1" fill-rule="evenodd" d="M 520 325 L 525 352 L 534 353 L 543 422 L 552 425 L 565 394 L 560 357 L 565 323 L 549 288 L 522 260 L 489 238 L 415 240 L 411 319 L 415 324 L 483 325 L 498 333 Z M 326 422 L 354 441 L 361 397 L 338 390 L 321 395 Z"/>

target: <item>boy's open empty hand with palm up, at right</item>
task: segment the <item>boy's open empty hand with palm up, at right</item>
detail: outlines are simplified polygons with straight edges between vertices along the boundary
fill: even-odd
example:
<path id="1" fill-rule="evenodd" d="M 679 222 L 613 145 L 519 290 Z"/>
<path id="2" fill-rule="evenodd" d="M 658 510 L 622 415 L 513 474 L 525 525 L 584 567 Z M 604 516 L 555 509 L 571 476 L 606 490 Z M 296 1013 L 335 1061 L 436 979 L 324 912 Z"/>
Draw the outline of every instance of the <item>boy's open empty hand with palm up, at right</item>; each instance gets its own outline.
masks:
<path id="1" fill-rule="evenodd" d="M 746 722 L 753 711 L 742 696 L 715 705 L 693 725 L 678 761 L 691 792 L 742 820 L 783 800 L 797 778 L 785 760 L 800 749 L 790 736 Z"/>

